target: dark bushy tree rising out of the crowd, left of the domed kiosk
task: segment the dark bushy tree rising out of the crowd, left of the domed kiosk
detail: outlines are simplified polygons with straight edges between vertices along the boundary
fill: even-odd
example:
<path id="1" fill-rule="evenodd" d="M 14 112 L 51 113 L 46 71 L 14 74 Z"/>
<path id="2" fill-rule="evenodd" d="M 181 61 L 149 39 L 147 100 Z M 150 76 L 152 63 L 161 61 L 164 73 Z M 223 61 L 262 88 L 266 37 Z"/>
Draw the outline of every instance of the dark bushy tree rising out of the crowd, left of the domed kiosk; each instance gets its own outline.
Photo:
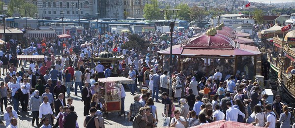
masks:
<path id="1" fill-rule="evenodd" d="M 121 45 L 122 49 L 139 49 L 142 44 L 145 42 L 139 35 L 137 34 L 129 34 L 128 36 L 129 41 L 125 42 Z"/>

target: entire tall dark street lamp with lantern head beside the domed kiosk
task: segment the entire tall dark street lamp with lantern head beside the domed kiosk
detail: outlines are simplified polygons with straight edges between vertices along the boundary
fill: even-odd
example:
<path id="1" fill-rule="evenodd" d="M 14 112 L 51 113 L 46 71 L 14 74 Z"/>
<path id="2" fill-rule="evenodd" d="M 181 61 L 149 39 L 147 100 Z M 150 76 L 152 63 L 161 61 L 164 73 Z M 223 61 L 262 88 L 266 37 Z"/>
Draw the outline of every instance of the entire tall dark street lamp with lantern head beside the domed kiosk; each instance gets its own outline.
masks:
<path id="1" fill-rule="evenodd" d="M 180 9 L 164 9 L 164 11 L 166 12 L 166 18 L 169 22 L 169 18 L 170 16 L 168 16 L 168 12 L 169 11 L 172 11 L 172 17 L 171 17 L 171 20 L 170 20 L 170 64 L 169 64 L 169 74 L 170 74 L 170 84 L 169 84 L 169 97 L 172 96 L 172 67 L 173 67 L 173 64 L 172 64 L 172 43 L 173 43 L 173 30 L 174 30 L 174 26 L 175 26 L 175 21 L 176 21 L 176 17 L 177 17 L 177 12 L 179 11 Z"/>

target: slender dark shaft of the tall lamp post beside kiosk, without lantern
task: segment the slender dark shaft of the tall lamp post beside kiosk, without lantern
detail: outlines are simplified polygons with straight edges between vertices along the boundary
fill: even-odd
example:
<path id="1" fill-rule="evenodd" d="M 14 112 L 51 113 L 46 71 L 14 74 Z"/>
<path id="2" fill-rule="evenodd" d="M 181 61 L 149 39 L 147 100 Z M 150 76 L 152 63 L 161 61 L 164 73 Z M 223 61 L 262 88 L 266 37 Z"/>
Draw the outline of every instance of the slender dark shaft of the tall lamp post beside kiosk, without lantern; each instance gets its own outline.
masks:
<path id="1" fill-rule="evenodd" d="M 172 64 L 172 43 L 173 43 L 173 29 L 175 26 L 175 22 L 174 21 L 170 21 L 170 87 L 169 87 L 169 97 L 172 96 L 172 72 L 173 72 L 173 64 Z"/>

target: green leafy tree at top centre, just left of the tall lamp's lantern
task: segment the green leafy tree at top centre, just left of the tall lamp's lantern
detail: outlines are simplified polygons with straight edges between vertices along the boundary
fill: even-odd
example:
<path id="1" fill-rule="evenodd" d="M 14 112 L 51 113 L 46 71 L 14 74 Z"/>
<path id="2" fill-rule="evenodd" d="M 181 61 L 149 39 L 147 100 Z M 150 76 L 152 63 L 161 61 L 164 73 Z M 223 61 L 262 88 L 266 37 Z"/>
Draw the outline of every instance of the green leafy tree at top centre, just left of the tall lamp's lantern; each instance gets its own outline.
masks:
<path id="1" fill-rule="evenodd" d="M 161 20 L 164 18 L 163 12 L 159 8 L 158 0 L 151 0 L 145 5 L 144 18 L 148 20 Z"/>

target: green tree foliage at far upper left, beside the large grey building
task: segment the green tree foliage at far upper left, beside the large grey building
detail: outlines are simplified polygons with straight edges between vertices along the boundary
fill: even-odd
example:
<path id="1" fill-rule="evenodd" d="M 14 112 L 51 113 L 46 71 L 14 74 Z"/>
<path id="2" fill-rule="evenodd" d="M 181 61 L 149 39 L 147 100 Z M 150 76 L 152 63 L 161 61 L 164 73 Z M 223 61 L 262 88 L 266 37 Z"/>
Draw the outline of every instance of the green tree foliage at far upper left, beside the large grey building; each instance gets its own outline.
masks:
<path id="1" fill-rule="evenodd" d="M 37 6 L 31 2 L 26 2 L 25 0 L 10 0 L 8 3 L 8 15 L 13 16 L 13 14 L 20 14 L 24 17 L 27 12 L 28 17 L 32 17 L 37 12 Z M 25 11 L 26 10 L 26 11 Z"/>

